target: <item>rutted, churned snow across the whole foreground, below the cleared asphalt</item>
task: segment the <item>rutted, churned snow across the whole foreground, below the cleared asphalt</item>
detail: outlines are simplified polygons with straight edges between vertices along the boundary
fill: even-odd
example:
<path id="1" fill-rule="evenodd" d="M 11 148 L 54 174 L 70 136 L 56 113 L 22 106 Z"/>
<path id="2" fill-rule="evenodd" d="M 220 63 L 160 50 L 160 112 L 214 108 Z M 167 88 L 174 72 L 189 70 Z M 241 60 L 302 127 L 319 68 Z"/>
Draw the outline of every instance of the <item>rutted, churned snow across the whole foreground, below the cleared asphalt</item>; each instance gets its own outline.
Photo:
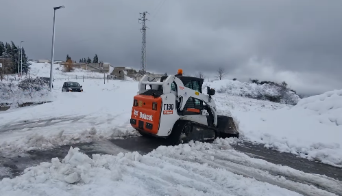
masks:
<path id="1" fill-rule="evenodd" d="M 224 148 L 224 149 L 222 149 Z M 228 159 L 228 160 L 227 160 Z M 234 165 L 237 161 L 241 166 Z M 276 169 L 293 182 L 269 171 Z M 315 182 L 342 191 L 339 182 L 273 165 L 230 149 L 228 141 L 161 146 L 141 156 L 93 154 L 71 148 L 60 162 L 25 169 L 23 175 L 0 182 L 2 195 L 334 195 L 306 184 Z"/>

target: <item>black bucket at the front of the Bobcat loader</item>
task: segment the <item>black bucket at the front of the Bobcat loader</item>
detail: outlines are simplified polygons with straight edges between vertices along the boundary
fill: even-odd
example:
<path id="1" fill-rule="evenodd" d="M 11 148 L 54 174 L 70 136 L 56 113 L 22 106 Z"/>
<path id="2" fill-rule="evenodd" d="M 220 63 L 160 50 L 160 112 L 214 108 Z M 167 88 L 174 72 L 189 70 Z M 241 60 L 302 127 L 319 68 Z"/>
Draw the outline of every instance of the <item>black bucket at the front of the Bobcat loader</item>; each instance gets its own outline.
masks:
<path id="1" fill-rule="evenodd" d="M 239 137 L 239 130 L 231 116 L 217 115 L 217 128 L 219 137 Z"/>

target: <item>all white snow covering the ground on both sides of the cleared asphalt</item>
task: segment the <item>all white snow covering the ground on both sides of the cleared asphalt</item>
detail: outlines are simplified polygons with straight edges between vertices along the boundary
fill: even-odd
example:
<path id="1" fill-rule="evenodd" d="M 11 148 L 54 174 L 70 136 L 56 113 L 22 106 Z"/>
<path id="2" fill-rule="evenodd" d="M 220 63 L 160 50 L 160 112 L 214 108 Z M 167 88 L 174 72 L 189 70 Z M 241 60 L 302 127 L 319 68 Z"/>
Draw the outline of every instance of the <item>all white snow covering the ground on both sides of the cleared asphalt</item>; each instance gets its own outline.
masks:
<path id="1" fill-rule="evenodd" d="M 103 74 L 85 70 L 54 70 L 54 74 L 53 102 L 0 112 L 0 153 L 138 135 L 130 126 L 138 82 L 103 83 L 95 79 Z M 89 77 L 83 81 L 83 75 Z M 49 76 L 49 64 L 32 64 L 31 76 Z M 62 93 L 68 80 L 83 85 L 84 92 Z M 219 82 L 212 87 L 225 86 Z M 213 98 L 219 113 L 233 115 L 239 124 L 240 141 L 342 167 L 342 90 L 304 98 L 294 107 L 226 93 Z M 88 158 L 71 149 L 62 163 L 53 159 L 28 168 L 18 178 L 3 179 L 0 191 L 5 195 L 332 195 L 270 176 L 273 169 L 342 192 L 332 179 L 249 158 L 231 150 L 231 142 L 236 139 L 160 147 L 144 156 L 129 152 Z M 243 170 L 244 164 L 255 168 Z"/>

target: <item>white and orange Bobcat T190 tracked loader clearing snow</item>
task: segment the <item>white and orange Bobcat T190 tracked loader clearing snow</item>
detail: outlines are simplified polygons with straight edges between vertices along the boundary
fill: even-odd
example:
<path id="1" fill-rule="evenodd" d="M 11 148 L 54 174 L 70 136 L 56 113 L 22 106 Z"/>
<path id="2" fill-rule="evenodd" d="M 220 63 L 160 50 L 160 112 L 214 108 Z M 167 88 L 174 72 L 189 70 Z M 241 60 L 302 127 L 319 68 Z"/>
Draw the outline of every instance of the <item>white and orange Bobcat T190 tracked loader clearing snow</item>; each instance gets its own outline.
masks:
<path id="1" fill-rule="evenodd" d="M 232 117 L 217 115 L 215 89 L 207 87 L 207 95 L 202 94 L 204 79 L 182 72 L 162 76 L 160 81 L 143 76 L 133 100 L 132 127 L 143 136 L 167 138 L 173 145 L 239 137 Z"/>

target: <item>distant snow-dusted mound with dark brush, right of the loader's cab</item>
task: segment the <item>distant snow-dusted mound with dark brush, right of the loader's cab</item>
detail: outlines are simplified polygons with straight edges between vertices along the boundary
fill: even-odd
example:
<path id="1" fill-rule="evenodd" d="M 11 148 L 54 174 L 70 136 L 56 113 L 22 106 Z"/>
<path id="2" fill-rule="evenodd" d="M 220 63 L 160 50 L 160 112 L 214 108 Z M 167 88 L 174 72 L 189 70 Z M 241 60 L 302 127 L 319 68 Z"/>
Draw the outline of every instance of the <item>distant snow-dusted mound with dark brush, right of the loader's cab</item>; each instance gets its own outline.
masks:
<path id="1" fill-rule="evenodd" d="M 277 83 L 264 83 L 258 85 L 256 83 L 242 83 L 240 81 L 232 81 L 223 79 L 213 81 L 212 83 L 204 83 L 203 87 L 214 88 L 218 93 L 230 94 L 232 96 L 242 96 L 246 98 L 254 98 L 258 100 L 269 100 L 284 104 L 295 105 L 300 97 L 284 85 Z M 206 92 L 206 89 L 204 89 Z"/>

